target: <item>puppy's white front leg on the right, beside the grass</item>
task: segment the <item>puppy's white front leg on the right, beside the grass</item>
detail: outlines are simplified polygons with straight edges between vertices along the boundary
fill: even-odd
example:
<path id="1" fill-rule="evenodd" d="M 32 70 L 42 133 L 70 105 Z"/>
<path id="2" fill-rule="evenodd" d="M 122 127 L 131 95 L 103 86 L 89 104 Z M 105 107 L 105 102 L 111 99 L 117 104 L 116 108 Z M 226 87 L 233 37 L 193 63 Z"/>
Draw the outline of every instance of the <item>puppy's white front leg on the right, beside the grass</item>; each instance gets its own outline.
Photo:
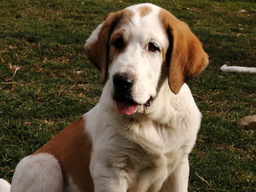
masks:
<path id="1" fill-rule="evenodd" d="M 160 192 L 188 192 L 189 183 L 189 159 L 182 159 L 179 166 L 171 172 L 168 179 L 162 185 Z"/>

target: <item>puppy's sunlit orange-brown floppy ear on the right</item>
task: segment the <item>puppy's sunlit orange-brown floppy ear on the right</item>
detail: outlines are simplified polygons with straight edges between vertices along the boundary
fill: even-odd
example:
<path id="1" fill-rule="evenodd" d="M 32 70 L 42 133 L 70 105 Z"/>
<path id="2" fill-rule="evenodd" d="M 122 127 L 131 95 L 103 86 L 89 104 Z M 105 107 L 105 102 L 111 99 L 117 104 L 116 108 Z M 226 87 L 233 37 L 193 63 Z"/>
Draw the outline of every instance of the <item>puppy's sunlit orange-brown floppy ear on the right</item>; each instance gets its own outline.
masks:
<path id="1" fill-rule="evenodd" d="M 171 91 L 177 94 L 185 82 L 202 72 L 209 59 L 186 23 L 164 9 L 160 11 L 159 18 L 169 39 L 165 58 L 169 65 L 168 84 Z"/>

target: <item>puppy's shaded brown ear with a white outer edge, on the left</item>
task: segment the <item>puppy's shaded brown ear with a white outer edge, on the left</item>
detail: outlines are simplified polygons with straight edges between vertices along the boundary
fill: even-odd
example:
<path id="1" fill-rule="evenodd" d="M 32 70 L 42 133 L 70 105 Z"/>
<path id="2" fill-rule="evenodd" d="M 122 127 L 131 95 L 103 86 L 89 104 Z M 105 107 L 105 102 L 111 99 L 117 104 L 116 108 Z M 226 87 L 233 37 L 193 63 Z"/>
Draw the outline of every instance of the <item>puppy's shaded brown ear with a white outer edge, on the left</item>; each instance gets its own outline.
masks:
<path id="1" fill-rule="evenodd" d="M 129 10 L 121 10 L 115 13 L 110 13 L 107 19 L 99 25 L 86 41 L 84 46 L 88 59 L 101 72 L 101 82 L 104 83 L 108 76 L 108 52 L 109 39 L 115 27 L 124 18 L 125 13 Z"/>

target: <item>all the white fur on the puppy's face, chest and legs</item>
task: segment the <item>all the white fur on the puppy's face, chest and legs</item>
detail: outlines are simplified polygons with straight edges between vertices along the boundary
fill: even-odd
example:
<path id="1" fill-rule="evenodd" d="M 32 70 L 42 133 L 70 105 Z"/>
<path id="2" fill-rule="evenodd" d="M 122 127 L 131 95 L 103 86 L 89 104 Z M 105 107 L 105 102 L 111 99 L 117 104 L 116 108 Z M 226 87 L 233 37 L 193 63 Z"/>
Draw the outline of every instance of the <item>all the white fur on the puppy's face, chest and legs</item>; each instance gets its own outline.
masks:
<path id="1" fill-rule="evenodd" d="M 153 11 L 140 17 L 137 9 L 143 5 Z M 187 192 L 188 155 L 195 144 L 201 113 L 186 84 L 176 95 L 170 91 L 162 52 L 148 51 L 148 42 L 161 50 L 168 47 L 157 17 L 160 7 L 147 3 L 127 9 L 134 12 L 129 25 L 122 28 L 129 44 L 109 65 L 109 80 L 99 103 L 84 115 L 86 132 L 93 142 L 90 172 L 94 192 Z M 97 40 L 100 28 L 87 43 Z M 118 113 L 112 99 L 113 76 L 117 73 L 135 77 L 132 97 L 142 105 L 130 116 Z M 150 97 L 153 101 L 146 109 L 143 104 Z M 48 171 L 50 175 L 43 175 Z M 19 179 L 21 172 L 27 175 Z M 62 192 L 60 166 L 47 153 L 21 160 L 13 179 L 12 192 Z M 64 191 L 78 192 L 70 183 L 72 186 Z"/>

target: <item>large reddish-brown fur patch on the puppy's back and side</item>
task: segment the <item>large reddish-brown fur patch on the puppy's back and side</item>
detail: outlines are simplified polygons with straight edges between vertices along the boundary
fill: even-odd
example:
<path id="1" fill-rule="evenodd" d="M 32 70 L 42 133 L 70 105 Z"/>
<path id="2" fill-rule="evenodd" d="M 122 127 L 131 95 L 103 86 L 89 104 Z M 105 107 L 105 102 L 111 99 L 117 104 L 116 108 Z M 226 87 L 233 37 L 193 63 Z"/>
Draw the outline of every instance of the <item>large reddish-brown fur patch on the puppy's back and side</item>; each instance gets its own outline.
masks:
<path id="1" fill-rule="evenodd" d="M 68 185 L 68 178 L 71 177 L 81 191 L 94 191 L 94 183 L 89 171 L 92 141 L 85 132 L 83 117 L 63 129 L 34 154 L 41 152 L 50 153 L 59 160 L 64 185 Z"/>

